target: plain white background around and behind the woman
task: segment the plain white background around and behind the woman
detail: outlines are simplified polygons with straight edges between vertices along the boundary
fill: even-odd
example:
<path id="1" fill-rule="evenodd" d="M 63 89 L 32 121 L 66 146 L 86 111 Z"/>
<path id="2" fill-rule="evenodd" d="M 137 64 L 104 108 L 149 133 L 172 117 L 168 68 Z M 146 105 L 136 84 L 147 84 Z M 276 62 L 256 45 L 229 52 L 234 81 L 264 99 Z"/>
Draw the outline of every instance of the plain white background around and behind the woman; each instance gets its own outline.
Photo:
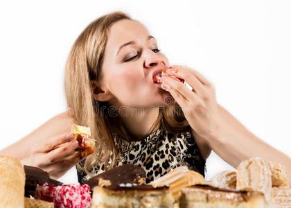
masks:
<path id="1" fill-rule="evenodd" d="M 170 64 L 200 71 L 218 103 L 291 155 L 291 1 L 6 1 L 0 3 L 0 149 L 66 109 L 69 49 L 91 21 L 128 12 Z M 206 180 L 231 169 L 214 153 Z M 60 179 L 78 182 L 75 168 Z"/>

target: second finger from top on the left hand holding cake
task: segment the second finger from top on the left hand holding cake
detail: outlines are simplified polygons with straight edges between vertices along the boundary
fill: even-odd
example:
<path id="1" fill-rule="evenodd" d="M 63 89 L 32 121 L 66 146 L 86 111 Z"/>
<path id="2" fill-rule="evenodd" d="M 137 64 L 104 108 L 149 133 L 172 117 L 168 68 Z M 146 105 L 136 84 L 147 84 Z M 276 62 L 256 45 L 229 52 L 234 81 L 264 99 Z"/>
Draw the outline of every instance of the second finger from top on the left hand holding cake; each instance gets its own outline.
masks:
<path id="1" fill-rule="evenodd" d="M 67 157 L 68 155 L 72 155 L 76 148 L 78 148 L 78 141 L 74 140 L 63 144 L 59 148 L 51 150 L 46 154 L 47 163 L 52 164 L 58 162 L 64 157 Z"/>

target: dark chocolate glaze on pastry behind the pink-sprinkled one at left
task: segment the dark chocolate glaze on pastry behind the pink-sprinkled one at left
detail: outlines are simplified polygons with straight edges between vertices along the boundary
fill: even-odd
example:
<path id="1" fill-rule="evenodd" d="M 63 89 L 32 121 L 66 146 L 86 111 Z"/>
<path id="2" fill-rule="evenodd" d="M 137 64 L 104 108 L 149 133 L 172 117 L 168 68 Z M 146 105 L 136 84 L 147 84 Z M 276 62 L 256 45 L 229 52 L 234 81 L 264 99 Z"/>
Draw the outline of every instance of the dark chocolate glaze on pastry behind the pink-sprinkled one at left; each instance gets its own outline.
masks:
<path id="1" fill-rule="evenodd" d="M 35 196 L 35 189 L 37 184 L 53 184 L 61 185 L 62 182 L 53 180 L 49 177 L 49 174 L 46 171 L 43 171 L 41 168 L 33 166 L 24 166 L 24 172 L 26 176 L 25 180 L 25 193 L 26 197 Z"/>

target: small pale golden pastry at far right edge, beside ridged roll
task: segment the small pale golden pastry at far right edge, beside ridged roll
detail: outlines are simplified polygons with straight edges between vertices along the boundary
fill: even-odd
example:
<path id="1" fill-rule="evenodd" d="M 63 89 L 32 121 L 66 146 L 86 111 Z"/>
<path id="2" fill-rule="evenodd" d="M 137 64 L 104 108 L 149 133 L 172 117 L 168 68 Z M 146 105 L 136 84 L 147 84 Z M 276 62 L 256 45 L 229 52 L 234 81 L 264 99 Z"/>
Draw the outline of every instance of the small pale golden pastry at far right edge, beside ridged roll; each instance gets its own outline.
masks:
<path id="1" fill-rule="evenodd" d="M 269 168 L 272 172 L 272 187 L 288 187 L 288 177 L 285 166 L 275 162 L 268 162 Z"/>

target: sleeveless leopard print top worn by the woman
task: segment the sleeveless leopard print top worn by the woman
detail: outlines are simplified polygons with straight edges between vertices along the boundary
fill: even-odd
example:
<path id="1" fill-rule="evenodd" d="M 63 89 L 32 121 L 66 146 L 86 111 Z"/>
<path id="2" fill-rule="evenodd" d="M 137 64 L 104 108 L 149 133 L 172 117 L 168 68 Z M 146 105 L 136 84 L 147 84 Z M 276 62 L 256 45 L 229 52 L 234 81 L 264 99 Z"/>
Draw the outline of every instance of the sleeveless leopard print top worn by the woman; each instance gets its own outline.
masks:
<path id="1" fill-rule="evenodd" d="M 205 160 L 192 132 L 182 132 L 177 134 L 177 137 L 174 136 L 161 126 L 141 141 L 125 141 L 115 135 L 114 142 L 121 156 L 116 166 L 135 164 L 142 167 L 146 173 L 146 183 L 165 175 L 177 166 L 188 166 L 190 170 L 204 176 Z M 80 162 L 80 166 L 84 166 L 84 161 Z M 91 173 L 98 175 L 104 172 L 104 165 L 91 170 Z M 89 180 L 89 175 L 85 172 L 77 169 L 77 173 L 80 184 Z"/>

